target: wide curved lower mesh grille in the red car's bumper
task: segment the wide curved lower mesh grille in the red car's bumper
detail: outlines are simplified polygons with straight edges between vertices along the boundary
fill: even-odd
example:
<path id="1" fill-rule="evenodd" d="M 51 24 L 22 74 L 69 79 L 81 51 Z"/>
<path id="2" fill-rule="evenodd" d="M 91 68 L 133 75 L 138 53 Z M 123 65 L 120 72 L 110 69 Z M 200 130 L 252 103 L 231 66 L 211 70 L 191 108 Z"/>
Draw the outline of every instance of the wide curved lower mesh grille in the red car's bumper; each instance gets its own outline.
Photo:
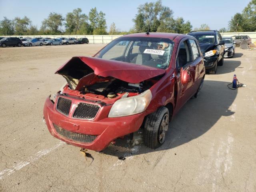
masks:
<path id="1" fill-rule="evenodd" d="M 83 143 L 90 143 L 93 142 L 96 139 L 96 135 L 86 135 L 86 134 L 81 134 L 81 133 L 75 133 L 75 132 L 71 132 L 68 131 L 66 129 L 63 129 L 61 127 L 59 127 L 58 125 L 54 124 L 54 129 L 56 130 L 56 132 L 58 132 L 58 134 L 74 140 L 74 141 L 79 141 L 79 142 L 83 142 Z"/>

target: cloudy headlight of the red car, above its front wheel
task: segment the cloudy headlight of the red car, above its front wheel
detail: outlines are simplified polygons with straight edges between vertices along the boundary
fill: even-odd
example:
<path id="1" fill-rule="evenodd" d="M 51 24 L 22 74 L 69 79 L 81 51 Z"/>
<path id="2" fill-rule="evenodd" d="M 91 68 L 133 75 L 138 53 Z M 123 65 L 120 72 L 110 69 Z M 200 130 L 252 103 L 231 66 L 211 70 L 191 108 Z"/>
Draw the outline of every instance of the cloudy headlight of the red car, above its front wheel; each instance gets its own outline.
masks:
<path id="1" fill-rule="evenodd" d="M 151 91 L 146 90 L 137 96 L 117 100 L 110 109 L 108 117 L 122 117 L 141 113 L 146 110 L 151 99 Z"/>

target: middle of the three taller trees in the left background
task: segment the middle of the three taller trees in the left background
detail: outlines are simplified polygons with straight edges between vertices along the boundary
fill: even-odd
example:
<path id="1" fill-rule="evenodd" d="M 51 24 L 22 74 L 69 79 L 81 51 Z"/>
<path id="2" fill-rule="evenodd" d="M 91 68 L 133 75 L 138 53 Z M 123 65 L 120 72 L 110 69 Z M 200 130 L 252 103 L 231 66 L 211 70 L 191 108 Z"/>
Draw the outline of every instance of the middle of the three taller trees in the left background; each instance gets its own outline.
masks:
<path id="1" fill-rule="evenodd" d="M 82 14 L 81 8 L 74 9 L 73 12 L 66 14 L 65 27 L 66 32 L 69 34 L 78 34 L 82 28 L 84 32 L 84 30 L 86 30 L 84 28 L 85 26 L 88 26 L 88 16 L 86 14 Z"/>

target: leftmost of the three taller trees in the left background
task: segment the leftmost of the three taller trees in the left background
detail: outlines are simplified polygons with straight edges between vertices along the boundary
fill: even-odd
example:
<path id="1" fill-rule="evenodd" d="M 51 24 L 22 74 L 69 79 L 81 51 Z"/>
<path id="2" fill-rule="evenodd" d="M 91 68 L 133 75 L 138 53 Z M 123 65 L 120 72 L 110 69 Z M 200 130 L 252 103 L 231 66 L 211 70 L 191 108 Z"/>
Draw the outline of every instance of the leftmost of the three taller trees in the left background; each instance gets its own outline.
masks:
<path id="1" fill-rule="evenodd" d="M 47 19 L 42 21 L 42 29 L 50 30 L 53 34 L 60 34 L 60 28 L 63 25 L 64 18 L 61 14 L 51 12 Z"/>

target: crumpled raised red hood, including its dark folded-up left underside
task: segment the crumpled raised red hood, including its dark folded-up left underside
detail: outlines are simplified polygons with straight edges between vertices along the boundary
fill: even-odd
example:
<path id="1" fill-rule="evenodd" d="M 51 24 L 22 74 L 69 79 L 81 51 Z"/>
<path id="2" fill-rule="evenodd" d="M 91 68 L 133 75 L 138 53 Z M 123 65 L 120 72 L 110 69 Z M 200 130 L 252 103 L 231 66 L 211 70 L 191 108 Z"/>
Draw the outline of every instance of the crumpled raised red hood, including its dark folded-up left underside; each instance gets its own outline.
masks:
<path id="1" fill-rule="evenodd" d="M 69 85 L 70 81 L 73 82 L 72 88 L 75 89 L 79 80 L 91 73 L 135 84 L 162 75 L 165 70 L 96 57 L 73 57 L 55 73 L 64 76 Z"/>

